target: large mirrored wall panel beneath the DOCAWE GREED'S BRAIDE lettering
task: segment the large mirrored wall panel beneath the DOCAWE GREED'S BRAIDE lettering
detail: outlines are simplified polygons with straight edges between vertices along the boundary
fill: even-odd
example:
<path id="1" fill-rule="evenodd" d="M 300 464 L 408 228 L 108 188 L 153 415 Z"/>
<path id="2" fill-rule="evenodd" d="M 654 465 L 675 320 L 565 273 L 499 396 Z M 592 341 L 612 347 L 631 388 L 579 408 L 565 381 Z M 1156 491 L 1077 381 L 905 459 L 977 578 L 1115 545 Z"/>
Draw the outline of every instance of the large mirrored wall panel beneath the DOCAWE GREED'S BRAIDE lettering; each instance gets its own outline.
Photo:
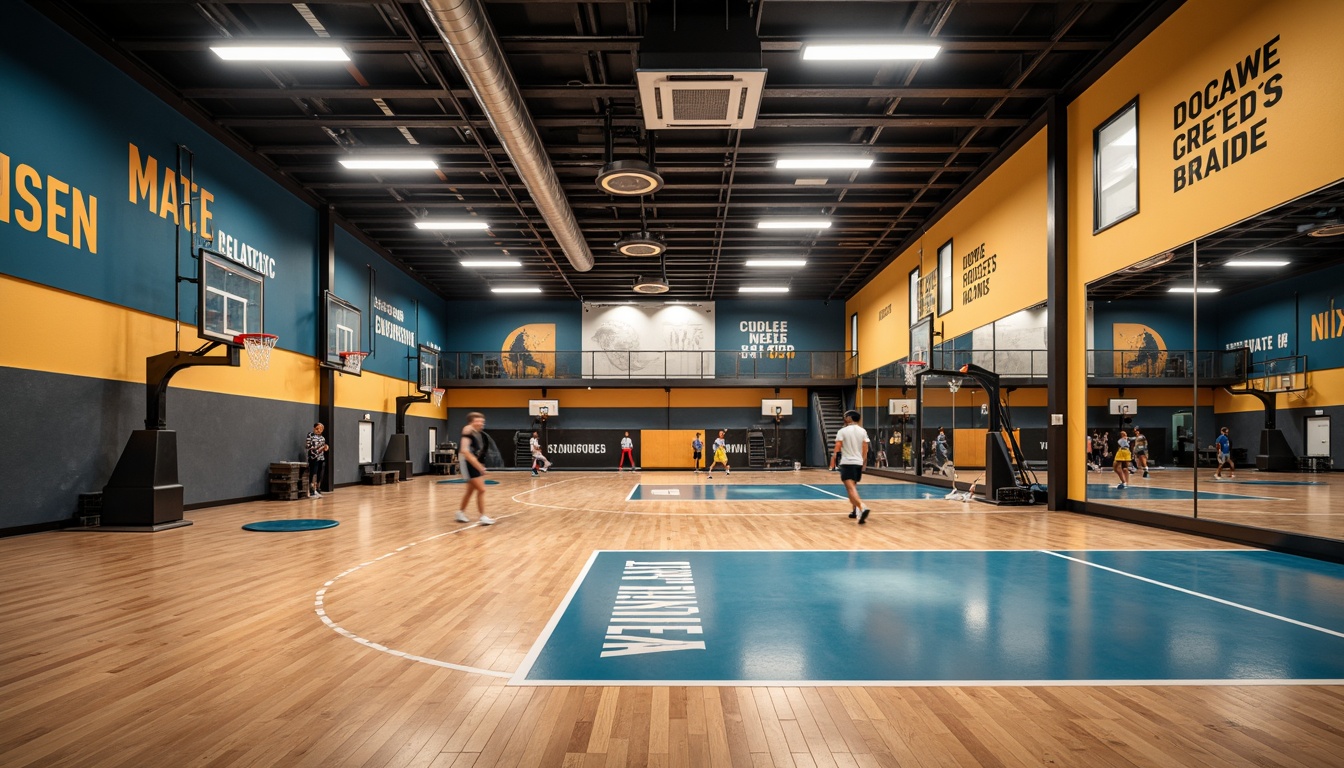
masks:
<path id="1" fill-rule="evenodd" d="M 1341 286 L 1344 184 L 1089 285 L 1087 500 L 1344 539 Z"/>

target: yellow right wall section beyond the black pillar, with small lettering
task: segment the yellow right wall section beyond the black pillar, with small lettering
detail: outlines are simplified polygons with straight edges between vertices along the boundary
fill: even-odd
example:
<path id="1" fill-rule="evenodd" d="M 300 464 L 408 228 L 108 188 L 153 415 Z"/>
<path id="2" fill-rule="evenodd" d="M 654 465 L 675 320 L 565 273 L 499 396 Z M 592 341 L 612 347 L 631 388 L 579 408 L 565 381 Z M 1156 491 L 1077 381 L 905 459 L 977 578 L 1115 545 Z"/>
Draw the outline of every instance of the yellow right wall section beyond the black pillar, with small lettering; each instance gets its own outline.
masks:
<path id="1" fill-rule="evenodd" d="M 1046 132 L 1013 153 L 965 200 L 845 303 L 859 313 L 859 369 L 871 371 L 910 352 L 910 270 L 938 269 L 938 247 L 952 239 L 953 309 L 934 330 L 954 339 L 1046 300 Z M 964 260 L 984 246 L 993 260 L 989 293 L 964 303 Z M 887 307 L 891 312 L 882 316 Z M 848 343 L 848 325 L 845 339 Z"/>

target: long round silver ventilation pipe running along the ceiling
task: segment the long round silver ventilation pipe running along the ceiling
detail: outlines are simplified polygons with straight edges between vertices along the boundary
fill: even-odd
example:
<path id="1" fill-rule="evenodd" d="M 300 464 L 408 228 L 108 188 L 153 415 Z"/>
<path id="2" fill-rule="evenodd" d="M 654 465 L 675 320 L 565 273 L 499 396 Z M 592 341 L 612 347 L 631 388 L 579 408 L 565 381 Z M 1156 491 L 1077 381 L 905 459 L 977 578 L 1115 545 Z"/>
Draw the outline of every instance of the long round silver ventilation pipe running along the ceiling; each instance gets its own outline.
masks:
<path id="1" fill-rule="evenodd" d="M 485 9 L 478 0 L 421 1 L 564 256 L 579 272 L 593 269 L 593 252 L 542 148 L 542 137 L 527 113 Z"/>

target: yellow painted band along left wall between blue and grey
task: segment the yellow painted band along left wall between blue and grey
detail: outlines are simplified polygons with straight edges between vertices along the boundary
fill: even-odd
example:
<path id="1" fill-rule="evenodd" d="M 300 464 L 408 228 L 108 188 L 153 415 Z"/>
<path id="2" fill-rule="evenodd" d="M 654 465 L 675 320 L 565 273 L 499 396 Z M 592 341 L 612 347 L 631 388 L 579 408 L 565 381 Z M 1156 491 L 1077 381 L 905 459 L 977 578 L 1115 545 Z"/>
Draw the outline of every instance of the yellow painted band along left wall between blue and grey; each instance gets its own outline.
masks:
<path id="1" fill-rule="evenodd" d="M 0 328 L 11 339 L 0 344 L 0 366 L 95 379 L 144 383 L 145 358 L 173 348 L 172 320 L 8 276 L 0 276 Z M 199 346 L 195 325 L 183 324 L 181 347 Z M 243 354 L 237 369 L 198 366 L 177 373 L 171 389 L 179 387 L 316 406 L 319 367 L 306 355 L 274 350 L 270 367 L 257 371 Z M 402 379 L 336 374 L 339 408 L 394 413 L 402 394 L 411 394 Z M 411 413 L 433 416 L 430 409 L 415 405 Z"/>

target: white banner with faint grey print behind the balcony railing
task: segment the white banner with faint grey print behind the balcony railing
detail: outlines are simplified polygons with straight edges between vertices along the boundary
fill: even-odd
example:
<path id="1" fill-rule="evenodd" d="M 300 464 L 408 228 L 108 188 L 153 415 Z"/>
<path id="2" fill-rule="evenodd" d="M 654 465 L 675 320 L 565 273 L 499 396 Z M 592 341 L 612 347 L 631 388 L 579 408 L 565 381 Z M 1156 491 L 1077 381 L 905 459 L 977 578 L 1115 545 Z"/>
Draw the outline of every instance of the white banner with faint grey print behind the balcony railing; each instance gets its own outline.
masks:
<path id="1" fill-rule="evenodd" d="M 589 307 L 583 375 L 712 378 L 714 303 Z"/>

